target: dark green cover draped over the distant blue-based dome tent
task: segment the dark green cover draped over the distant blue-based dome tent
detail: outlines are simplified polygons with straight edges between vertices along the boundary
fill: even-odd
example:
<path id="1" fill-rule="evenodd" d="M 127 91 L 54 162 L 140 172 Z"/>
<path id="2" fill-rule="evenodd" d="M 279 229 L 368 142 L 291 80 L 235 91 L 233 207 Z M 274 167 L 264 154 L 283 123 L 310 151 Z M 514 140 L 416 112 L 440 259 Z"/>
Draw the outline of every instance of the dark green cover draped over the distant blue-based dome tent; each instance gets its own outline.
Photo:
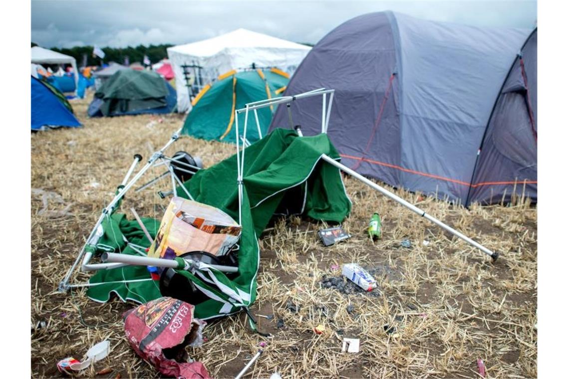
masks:
<path id="1" fill-rule="evenodd" d="M 137 70 L 117 71 L 94 95 L 103 101 L 100 111 L 105 116 L 164 107 L 167 96 L 168 88 L 160 74 Z"/>

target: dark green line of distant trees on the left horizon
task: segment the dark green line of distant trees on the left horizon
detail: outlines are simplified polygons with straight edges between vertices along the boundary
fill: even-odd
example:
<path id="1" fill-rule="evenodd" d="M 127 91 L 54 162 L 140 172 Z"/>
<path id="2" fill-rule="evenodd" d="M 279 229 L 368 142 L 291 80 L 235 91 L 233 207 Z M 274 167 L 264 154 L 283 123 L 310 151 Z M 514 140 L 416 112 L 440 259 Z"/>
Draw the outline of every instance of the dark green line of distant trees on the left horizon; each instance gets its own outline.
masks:
<path id="1" fill-rule="evenodd" d="M 37 44 L 32 42 L 32 47 Z M 123 64 L 125 59 L 128 58 L 129 63 L 139 62 L 142 63 L 144 56 L 149 57 L 152 64 L 159 62 L 160 60 L 167 58 L 168 53 L 166 49 L 168 47 L 174 46 L 172 44 L 160 44 L 160 45 L 138 45 L 137 47 L 124 47 L 124 48 L 114 48 L 114 47 L 103 47 L 102 51 L 105 52 L 105 59 L 100 59 L 93 55 L 93 46 L 75 46 L 72 48 L 57 48 L 52 47 L 50 50 L 56 51 L 61 54 L 70 55 L 77 61 L 78 66 L 84 64 L 84 57 L 86 56 L 86 65 L 88 66 L 98 66 L 103 63 L 109 63 L 111 61 Z"/>

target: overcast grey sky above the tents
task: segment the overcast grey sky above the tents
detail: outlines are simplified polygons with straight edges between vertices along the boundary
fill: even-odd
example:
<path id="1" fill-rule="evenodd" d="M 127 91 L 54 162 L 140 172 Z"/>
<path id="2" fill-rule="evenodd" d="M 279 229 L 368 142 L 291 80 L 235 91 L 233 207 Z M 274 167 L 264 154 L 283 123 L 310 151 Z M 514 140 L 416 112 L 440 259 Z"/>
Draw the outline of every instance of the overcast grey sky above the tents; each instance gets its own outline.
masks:
<path id="1" fill-rule="evenodd" d="M 533 28 L 535 1 L 34 1 L 32 41 L 43 47 L 189 43 L 235 30 L 316 43 L 354 16 L 393 10 L 485 27 Z"/>

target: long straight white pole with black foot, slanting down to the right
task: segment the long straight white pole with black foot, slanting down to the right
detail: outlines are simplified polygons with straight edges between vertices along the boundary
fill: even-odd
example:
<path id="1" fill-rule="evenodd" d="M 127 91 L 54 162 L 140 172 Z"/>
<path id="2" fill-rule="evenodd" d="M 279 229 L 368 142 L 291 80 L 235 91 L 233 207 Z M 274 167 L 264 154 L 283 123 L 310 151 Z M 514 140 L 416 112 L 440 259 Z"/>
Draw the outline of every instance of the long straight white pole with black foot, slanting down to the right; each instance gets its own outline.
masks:
<path id="1" fill-rule="evenodd" d="M 391 193 L 390 191 L 386 190 L 385 188 L 378 186 L 374 182 L 370 181 L 368 178 L 361 176 L 360 174 L 358 174 L 357 172 L 355 172 L 351 168 L 344 166 L 343 164 L 333 160 L 331 157 L 329 157 L 327 155 L 322 155 L 322 159 L 327 161 L 329 164 L 336 166 L 337 168 L 339 168 L 343 172 L 353 176 L 357 180 L 364 182 L 365 184 L 367 184 L 368 186 L 370 186 L 374 190 L 380 191 L 382 194 L 386 195 L 390 199 L 395 200 L 396 202 L 398 202 L 402 206 L 407 207 L 411 211 L 417 213 L 419 216 L 422 216 L 422 217 L 426 218 L 427 220 L 429 220 L 430 222 L 438 225 L 439 227 L 442 227 L 444 230 L 451 232 L 451 234 L 457 236 L 458 238 L 467 242 L 468 244 L 471 244 L 473 247 L 475 247 L 475 248 L 479 249 L 480 251 L 488 254 L 490 257 L 492 257 L 493 261 L 496 261 L 498 259 L 498 252 L 493 252 L 490 249 L 485 248 L 483 245 L 477 243 L 476 241 L 468 238 L 467 236 L 465 236 L 461 232 L 451 228 L 447 224 L 445 224 L 445 223 L 441 222 L 440 220 L 434 218 L 433 216 L 431 216 L 430 214 L 426 213 L 425 211 L 419 209 L 418 207 L 414 206 L 410 202 L 407 202 L 404 199 L 402 199 L 402 198 L 398 197 L 397 195 Z"/>

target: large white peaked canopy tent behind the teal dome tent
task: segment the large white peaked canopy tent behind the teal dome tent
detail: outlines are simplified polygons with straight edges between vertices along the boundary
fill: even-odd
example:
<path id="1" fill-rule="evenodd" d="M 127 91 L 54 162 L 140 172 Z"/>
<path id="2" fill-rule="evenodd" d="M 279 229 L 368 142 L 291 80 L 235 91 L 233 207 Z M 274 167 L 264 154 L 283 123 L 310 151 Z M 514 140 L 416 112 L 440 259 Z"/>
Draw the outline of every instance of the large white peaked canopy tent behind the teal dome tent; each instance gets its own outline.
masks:
<path id="1" fill-rule="evenodd" d="M 168 59 L 176 76 L 178 111 L 183 113 L 191 107 L 188 81 L 189 84 L 197 84 L 200 87 L 220 74 L 247 68 L 252 64 L 259 68 L 277 67 L 292 74 L 310 49 L 306 45 L 246 29 L 169 47 Z"/>

